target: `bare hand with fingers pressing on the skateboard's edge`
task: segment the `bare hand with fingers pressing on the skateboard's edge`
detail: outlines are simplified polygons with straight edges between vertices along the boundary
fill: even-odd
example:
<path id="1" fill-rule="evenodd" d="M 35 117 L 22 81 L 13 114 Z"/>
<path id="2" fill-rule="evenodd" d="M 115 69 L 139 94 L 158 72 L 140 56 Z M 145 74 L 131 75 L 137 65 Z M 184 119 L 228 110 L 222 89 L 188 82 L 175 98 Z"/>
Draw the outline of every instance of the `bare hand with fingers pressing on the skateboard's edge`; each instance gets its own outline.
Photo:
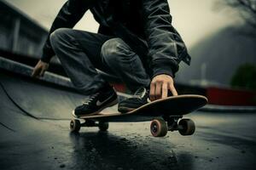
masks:
<path id="1" fill-rule="evenodd" d="M 164 74 L 154 77 L 150 84 L 150 100 L 166 98 L 168 90 L 172 92 L 172 95 L 177 95 L 172 77 Z"/>

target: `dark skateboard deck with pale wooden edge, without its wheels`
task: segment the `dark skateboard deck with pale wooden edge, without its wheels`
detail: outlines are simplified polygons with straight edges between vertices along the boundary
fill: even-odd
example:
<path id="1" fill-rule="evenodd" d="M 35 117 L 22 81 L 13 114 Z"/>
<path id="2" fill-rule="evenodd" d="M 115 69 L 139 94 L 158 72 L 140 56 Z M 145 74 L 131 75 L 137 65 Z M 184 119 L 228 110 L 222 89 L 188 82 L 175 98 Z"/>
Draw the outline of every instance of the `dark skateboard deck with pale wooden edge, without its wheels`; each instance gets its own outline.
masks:
<path id="1" fill-rule="evenodd" d="M 103 122 L 144 122 L 157 116 L 181 116 L 189 114 L 207 104 L 207 98 L 201 95 L 179 95 L 158 99 L 126 113 L 99 113 L 83 116 L 80 119 Z"/>

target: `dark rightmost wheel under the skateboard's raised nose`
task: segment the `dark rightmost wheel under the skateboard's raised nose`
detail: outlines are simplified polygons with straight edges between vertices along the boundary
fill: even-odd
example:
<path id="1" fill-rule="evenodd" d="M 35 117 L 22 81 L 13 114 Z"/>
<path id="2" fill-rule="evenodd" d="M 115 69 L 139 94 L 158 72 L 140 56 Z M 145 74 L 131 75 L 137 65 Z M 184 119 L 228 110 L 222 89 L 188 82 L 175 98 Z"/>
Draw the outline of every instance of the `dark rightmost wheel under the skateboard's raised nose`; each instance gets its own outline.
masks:
<path id="1" fill-rule="evenodd" d="M 178 126 L 181 127 L 178 129 L 178 132 L 183 136 L 195 133 L 195 122 L 191 119 L 180 120 L 180 122 L 178 122 Z"/>

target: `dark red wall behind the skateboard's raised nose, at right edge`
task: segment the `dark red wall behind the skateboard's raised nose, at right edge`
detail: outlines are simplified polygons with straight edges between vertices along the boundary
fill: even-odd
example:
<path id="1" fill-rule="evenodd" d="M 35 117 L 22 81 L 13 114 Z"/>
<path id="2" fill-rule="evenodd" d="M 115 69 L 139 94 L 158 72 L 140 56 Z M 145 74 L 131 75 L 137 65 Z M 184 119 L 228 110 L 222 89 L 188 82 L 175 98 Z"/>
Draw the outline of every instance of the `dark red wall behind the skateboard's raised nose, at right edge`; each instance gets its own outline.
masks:
<path id="1" fill-rule="evenodd" d="M 207 88 L 212 105 L 256 105 L 256 92 L 228 88 Z"/>

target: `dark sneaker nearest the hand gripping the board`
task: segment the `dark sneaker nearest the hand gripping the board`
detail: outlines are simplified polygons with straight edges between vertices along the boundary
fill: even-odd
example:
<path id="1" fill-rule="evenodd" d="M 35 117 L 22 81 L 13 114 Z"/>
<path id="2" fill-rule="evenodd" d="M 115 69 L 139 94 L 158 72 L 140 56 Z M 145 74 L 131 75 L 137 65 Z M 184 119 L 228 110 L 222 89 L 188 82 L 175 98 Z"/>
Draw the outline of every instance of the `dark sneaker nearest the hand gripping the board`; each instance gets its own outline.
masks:
<path id="1" fill-rule="evenodd" d="M 133 111 L 149 102 L 149 89 L 139 88 L 131 98 L 124 99 L 123 101 L 119 102 L 118 110 L 121 113 L 126 113 L 128 111 Z"/>

